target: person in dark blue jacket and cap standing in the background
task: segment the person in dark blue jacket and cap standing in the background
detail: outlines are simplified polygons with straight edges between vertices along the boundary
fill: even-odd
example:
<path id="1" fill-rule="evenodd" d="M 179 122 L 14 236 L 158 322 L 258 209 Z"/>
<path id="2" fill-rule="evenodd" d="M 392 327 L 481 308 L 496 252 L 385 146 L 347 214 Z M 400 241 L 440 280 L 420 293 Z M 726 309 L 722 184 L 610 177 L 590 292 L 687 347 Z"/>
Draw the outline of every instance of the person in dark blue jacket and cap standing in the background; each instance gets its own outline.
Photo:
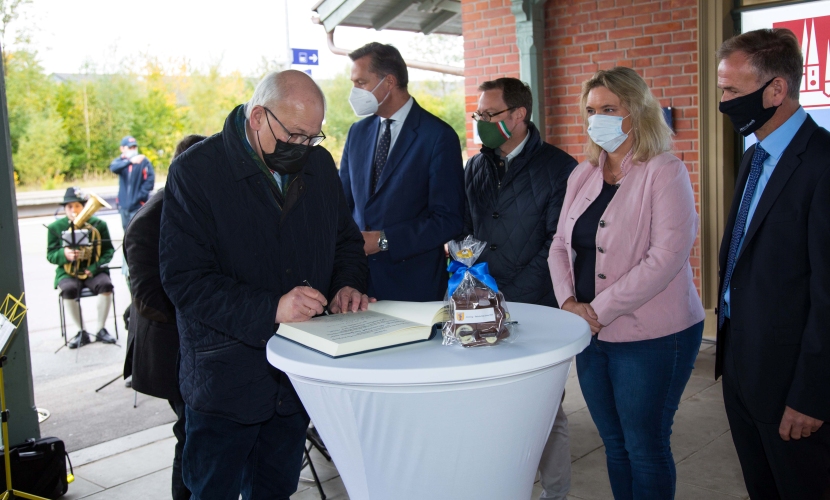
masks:
<path id="1" fill-rule="evenodd" d="M 118 174 L 118 211 L 124 230 L 138 209 L 150 199 L 156 174 L 146 156 L 138 154 L 138 142 L 128 135 L 121 139 L 121 156 L 112 160 L 110 170 Z"/>

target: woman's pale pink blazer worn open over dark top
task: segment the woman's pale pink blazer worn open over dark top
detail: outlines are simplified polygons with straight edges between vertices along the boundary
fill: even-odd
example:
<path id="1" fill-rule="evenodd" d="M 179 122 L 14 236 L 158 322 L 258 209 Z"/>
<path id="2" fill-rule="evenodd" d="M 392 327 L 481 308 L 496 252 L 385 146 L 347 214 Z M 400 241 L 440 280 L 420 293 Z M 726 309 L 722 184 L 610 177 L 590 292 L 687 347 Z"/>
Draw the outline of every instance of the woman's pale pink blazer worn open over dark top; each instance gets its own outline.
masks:
<path id="1" fill-rule="evenodd" d="M 568 179 L 548 257 L 560 304 L 576 297 L 571 235 L 602 190 L 606 156 L 596 167 L 580 163 Z M 597 253 L 591 306 L 605 325 L 599 339 L 608 342 L 671 335 L 705 316 L 689 263 L 700 222 L 686 166 L 664 153 L 645 163 L 632 161 L 627 171 L 597 228 L 597 246 L 605 252 Z"/>

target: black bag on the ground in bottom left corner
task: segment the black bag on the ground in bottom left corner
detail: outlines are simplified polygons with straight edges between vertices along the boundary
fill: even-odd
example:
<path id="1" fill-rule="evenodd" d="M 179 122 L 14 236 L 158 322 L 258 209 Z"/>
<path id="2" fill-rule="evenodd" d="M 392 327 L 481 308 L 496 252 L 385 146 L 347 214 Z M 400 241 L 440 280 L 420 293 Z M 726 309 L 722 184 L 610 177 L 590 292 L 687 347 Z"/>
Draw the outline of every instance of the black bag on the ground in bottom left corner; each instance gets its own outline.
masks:
<path id="1" fill-rule="evenodd" d="M 66 448 L 58 438 L 31 439 L 11 449 L 12 487 L 46 498 L 62 497 L 69 488 Z M 6 472 L 0 452 L 0 492 L 6 491 Z"/>

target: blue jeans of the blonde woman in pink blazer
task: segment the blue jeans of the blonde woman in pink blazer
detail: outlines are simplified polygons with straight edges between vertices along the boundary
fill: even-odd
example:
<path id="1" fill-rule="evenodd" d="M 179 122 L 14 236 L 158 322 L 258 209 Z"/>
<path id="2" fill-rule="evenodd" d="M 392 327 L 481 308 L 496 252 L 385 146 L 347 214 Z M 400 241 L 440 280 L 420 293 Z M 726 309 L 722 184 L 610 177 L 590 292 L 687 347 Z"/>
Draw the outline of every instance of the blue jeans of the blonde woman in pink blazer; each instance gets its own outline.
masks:
<path id="1" fill-rule="evenodd" d="M 674 498 L 671 427 L 700 350 L 703 322 L 651 340 L 605 342 L 596 336 L 576 357 L 616 500 Z"/>

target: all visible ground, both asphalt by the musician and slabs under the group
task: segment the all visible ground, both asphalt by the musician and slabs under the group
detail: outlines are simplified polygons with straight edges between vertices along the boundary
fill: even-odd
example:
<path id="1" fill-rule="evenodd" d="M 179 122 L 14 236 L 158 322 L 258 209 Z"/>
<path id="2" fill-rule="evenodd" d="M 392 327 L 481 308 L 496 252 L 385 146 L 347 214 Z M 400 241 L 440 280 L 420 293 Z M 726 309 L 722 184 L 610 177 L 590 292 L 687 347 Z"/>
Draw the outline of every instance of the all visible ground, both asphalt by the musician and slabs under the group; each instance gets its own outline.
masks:
<path id="1" fill-rule="evenodd" d="M 123 237 L 120 217 L 105 215 L 116 246 Z M 44 436 L 66 442 L 75 465 L 76 481 L 65 497 L 87 499 L 169 498 L 174 438 L 170 423 L 175 415 L 167 402 L 138 396 L 119 379 L 96 393 L 95 388 L 121 373 L 124 348 L 91 344 L 78 351 L 61 349 L 57 291 L 52 287 L 54 266 L 46 261 L 46 229 L 54 217 L 19 222 L 29 335 L 35 384 L 35 401 L 51 412 L 41 424 Z M 116 252 L 113 265 L 121 262 Z M 129 293 L 118 270 L 112 272 L 116 308 L 120 316 Z M 89 299 L 87 299 L 89 300 Z M 119 327 L 123 322 L 119 323 Z M 112 319 L 107 328 L 114 334 Z M 126 343 L 121 330 L 120 344 Z M 677 463 L 677 498 L 726 500 L 747 498 L 737 455 L 723 409 L 720 382 L 713 380 L 714 348 L 704 346 L 675 417 L 672 449 Z M 567 383 L 565 411 L 571 431 L 573 476 L 570 498 L 611 498 L 605 468 L 605 451 L 591 420 L 575 370 Z M 334 464 L 312 454 L 323 488 L 331 500 L 348 496 Z M 310 478 L 308 470 L 303 475 Z M 538 484 L 533 499 L 541 491 Z M 292 500 L 317 499 L 313 483 L 301 481 Z"/>

